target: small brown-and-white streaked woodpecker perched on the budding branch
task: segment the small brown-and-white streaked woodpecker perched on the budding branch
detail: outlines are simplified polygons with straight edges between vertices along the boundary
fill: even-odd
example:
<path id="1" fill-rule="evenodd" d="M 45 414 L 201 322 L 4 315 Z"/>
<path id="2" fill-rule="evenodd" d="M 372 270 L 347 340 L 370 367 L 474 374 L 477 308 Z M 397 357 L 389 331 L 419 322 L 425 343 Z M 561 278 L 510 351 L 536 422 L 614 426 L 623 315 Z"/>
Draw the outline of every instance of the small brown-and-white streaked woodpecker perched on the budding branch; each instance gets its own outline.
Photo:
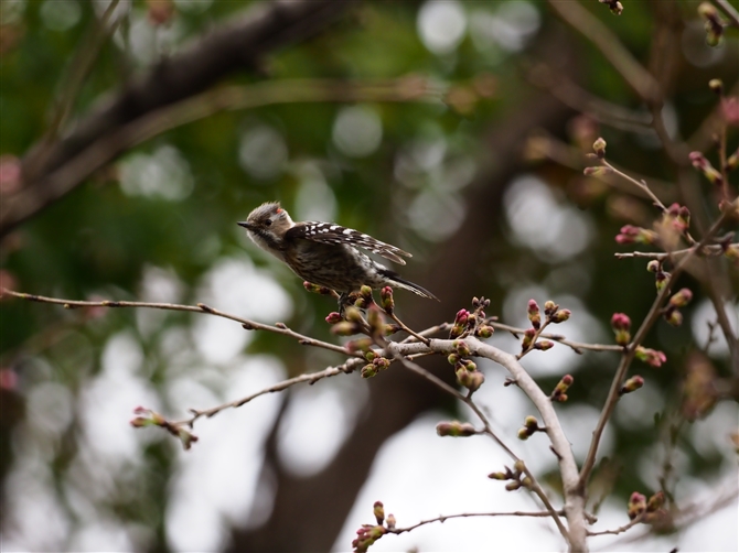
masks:
<path id="1" fill-rule="evenodd" d="M 431 292 L 403 279 L 360 251 L 371 251 L 398 264 L 406 264 L 407 251 L 335 223 L 293 221 L 279 202 L 256 207 L 245 221 L 237 223 L 259 248 L 283 261 L 298 276 L 339 293 L 343 307 L 352 292 L 396 286 L 421 297 L 439 301 Z"/>

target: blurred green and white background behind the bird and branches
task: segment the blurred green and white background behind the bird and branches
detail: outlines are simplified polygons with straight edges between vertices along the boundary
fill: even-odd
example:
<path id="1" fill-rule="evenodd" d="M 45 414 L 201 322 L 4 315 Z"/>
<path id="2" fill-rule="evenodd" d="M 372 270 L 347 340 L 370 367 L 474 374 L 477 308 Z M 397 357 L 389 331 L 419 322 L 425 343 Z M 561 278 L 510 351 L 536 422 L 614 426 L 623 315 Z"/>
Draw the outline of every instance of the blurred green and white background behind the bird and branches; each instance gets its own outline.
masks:
<path id="1" fill-rule="evenodd" d="M 668 52 L 662 115 L 673 138 L 700 139 L 718 102 L 709 79 L 724 79 L 736 96 L 737 33 L 709 47 L 697 2 L 624 1 L 620 17 L 595 1 L 580 4 L 644 65 L 658 65 Z M 127 84 L 275 4 L 109 7 L 2 1 L 0 202 L 24 186 L 21 171 L 33 167 L 21 160 L 43 144 L 58 106 L 68 115 L 57 134 L 74 135 Z M 646 178 L 665 203 L 686 199 L 647 108 L 602 53 L 538 0 L 335 2 L 333 11 L 310 33 L 265 47 L 258 64 L 235 63 L 218 79 L 216 88 L 242 87 L 253 98 L 248 108 L 192 122 L 185 113 L 4 229 L 2 285 L 65 299 L 203 302 L 333 340 L 323 322 L 332 301 L 308 294 L 236 226 L 258 204 L 279 199 L 294 219 L 334 220 L 411 251 L 403 274 L 441 299 L 398 292 L 399 313 L 417 329 L 452 319 L 473 295 L 490 297 L 489 312 L 517 326 L 526 326 L 529 299 L 553 299 L 572 311 L 558 330 L 582 341 L 611 343 L 614 312 L 640 322 L 655 294 L 653 276 L 644 260 L 615 259 L 629 248 L 613 237 L 657 214 L 628 186 L 585 177 L 583 153 L 603 135 L 609 159 Z M 113 32 L 100 39 L 104 17 Z M 306 101 L 311 87 L 318 93 Z M 586 101 L 593 98 L 606 108 L 593 111 Z M 709 139 L 698 142 L 715 155 Z M 737 148 L 736 127 L 728 143 Z M 694 217 L 710 220 L 710 185 L 697 173 L 693 184 Z M 729 279 L 733 303 L 726 311 L 736 333 L 736 270 Z M 632 369 L 646 384 L 617 408 L 591 500 L 604 497 L 598 529 L 606 529 L 628 521 L 634 490 L 649 496 L 666 486 L 681 508 L 711 506 L 727 490 L 729 499 L 709 514 L 697 509 L 690 523 L 664 535 L 636 528 L 625 539 L 593 539 L 593 549 L 739 547 L 729 437 L 736 398 L 695 422 L 685 420 L 681 400 L 697 362 L 692 356 L 700 356 L 709 378 L 736 379 L 739 369 L 721 333 L 708 343 L 715 311 L 700 284 L 684 275 L 681 285 L 694 291 L 694 302 L 683 326 L 661 322 L 647 337 L 668 361 Z M 0 316 L 3 551 L 347 551 L 378 499 L 399 525 L 442 513 L 537 509 L 526 494 L 486 478 L 507 462 L 494 445 L 436 436 L 437 422 L 469 413 L 400 368 L 258 398 L 200 421 L 200 441 L 184 452 L 159 429 L 130 427 L 133 408 L 180 419 L 189 408 L 342 359 L 196 314 L 65 311 L 3 299 Z M 503 333 L 492 343 L 520 347 Z M 618 358 L 556 346 L 525 361 L 545 390 L 575 376 L 558 412 L 582 459 Z M 533 408 L 502 386 L 500 367 L 481 368 L 486 382 L 476 397 L 515 442 Z M 556 495 L 545 441 L 513 445 Z M 386 536 L 373 550 L 410 547 L 563 544 L 546 520 L 460 519 Z"/>

